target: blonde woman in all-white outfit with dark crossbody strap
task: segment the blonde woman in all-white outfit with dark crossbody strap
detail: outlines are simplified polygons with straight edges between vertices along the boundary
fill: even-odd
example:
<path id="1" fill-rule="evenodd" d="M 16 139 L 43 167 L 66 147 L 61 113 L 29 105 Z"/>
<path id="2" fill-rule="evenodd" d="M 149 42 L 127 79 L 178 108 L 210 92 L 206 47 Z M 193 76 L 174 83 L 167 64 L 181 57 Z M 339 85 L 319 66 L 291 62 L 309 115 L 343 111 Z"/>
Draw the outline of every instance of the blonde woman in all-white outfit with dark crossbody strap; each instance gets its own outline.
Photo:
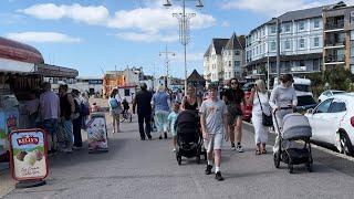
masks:
<path id="1" fill-rule="evenodd" d="M 266 90 L 266 84 L 262 80 L 256 81 L 248 103 L 253 104 L 252 124 L 254 127 L 254 140 L 257 145 L 256 155 L 267 154 L 266 144 L 268 142 L 269 128 L 262 124 L 262 112 L 266 115 L 270 115 L 271 111 L 269 105 L 269 92 Z"/>

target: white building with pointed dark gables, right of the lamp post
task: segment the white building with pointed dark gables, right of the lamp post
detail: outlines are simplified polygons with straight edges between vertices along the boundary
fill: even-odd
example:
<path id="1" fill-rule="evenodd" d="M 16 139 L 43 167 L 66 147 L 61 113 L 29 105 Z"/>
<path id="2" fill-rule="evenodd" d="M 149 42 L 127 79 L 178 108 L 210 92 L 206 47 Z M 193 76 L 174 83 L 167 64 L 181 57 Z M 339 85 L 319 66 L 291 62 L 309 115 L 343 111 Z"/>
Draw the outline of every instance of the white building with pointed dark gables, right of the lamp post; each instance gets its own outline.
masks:
<path id="1" fill-rule="evenodd" d="M 212 39 L 204 55 L 204 77 L 208 82 L 241 77 L 243 65 L 243 35 L 233 33 L 230 39 Z"/>

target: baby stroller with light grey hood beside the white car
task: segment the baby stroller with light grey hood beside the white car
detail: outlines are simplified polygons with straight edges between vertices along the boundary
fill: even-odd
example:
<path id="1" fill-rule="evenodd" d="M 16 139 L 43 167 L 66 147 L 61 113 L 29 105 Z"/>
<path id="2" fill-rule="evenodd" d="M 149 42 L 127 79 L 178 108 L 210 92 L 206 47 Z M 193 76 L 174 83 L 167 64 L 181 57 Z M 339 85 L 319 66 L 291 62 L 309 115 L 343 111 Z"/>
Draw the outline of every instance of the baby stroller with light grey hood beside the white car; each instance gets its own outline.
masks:
<path id="1" fill-rule="evenodd" d="M 289 107 L 281 109 L 289 109 Z M 279 150 L 274 153 L 275 168 L 279 168 L 280 161 L 283 161 L 288 164 L 289 172 L 293 174 L 294 165 L 305 164 L 308 171 L 311 172 L 313 159 L 310 137 L 312 136 L 312 129 L 309 119 L 299 113 L 288 114 L 283 118 L 283 128 L 281 130 L 277 117 L 274 117 L 274 121 L 280 132 L 278 136 Z M 304 142 L 304 146 L 302 148 L 292 147 L 291 142 L 295 140 Z M 287 147 L 282 146 L 287 143 L 289 144 Z"/>

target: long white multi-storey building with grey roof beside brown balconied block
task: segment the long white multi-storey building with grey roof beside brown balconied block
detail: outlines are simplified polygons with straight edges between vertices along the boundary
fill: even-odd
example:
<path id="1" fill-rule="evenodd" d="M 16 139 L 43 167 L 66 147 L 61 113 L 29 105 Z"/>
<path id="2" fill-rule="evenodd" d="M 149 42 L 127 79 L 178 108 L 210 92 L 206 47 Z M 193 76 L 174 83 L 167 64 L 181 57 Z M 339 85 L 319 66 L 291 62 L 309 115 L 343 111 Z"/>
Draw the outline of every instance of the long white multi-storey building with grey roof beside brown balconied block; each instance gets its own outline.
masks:
<path id="1" fill-rule="evenodd" d="M 290 11 L 279 17 L 280 72 L 312 73 L 322 67 L 323 21 L 322 7 Z M 277 20 L 261 24 L 246 36 L 247 74 L 264 75 L 267 64 L 270 74 L 277 73 Z"/>

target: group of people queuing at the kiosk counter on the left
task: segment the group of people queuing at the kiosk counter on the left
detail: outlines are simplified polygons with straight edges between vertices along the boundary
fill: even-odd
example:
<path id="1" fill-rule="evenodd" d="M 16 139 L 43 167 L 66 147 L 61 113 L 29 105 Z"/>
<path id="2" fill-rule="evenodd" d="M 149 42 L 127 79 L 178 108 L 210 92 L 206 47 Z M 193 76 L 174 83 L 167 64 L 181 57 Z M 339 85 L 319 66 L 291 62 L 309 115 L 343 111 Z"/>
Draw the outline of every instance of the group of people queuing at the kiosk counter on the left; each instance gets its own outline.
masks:
<path id="1" fill-rule="evenodd" d="M 40 91 L 32 91 L 27 111 L 30 127 L 42 128 L 48 133 L 49 154 L 82 148 L 81 129 L 86 128 L 90 103 L 86 93 L 60 85 L 59 93 L 44 82 Z"/>

